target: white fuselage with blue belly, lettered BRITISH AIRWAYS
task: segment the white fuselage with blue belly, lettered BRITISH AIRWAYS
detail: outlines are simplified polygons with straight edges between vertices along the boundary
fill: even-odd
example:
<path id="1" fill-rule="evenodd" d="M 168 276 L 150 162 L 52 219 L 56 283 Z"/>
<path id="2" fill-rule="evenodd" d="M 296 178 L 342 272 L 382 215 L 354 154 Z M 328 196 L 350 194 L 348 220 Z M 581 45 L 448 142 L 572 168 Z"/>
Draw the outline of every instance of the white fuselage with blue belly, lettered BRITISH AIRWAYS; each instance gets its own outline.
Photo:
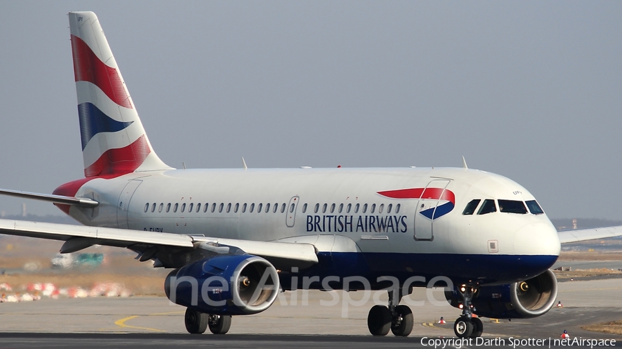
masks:
<path id="1" fill-rule="evenodd" d="M 449 191 L 455 207 L 447 195 L 420 199 L 379 194 L 407 188 Z M 482 274 L 478 269 L 498 268 L 482 281 L 509 282 L 543 272 L 560 251 L 557 232 L 545 214 L 497 210 L 463 215 L 473 199 L 534 197 L 510 179 L 462 168 L 137 172 L 87 181 L 76 196 L 100 202 L 95 209 L 69 211 L 89 226 L 314 243 L 319 252 L 332 255 L 331 268 L 337 270 L 340 253 L 355 253 L 365 256 L 375 274 L 473 279 Z M 440 212 L 441 206 L 453 209 L 434 219 L 422 213 Z"/>

